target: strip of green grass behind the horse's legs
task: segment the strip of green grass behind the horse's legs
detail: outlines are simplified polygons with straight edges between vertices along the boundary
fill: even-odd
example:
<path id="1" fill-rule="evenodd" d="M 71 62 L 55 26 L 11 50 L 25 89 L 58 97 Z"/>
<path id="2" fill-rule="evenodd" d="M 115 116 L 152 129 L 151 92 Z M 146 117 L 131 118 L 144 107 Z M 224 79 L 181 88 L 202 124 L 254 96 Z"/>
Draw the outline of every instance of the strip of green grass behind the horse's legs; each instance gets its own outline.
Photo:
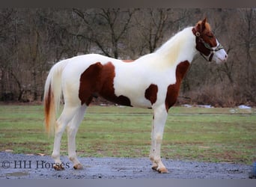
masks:
<path id="1" fill-rule="evenodd" d="M 91 106 L 76 138 L 78 156 L 147 157 L 152 110 Z M 0 105 L 0 151 L 52 153 L 42 105 Z M 67 134 L 61 154 L 67 155 Z M 162 157 L 251 165 L 256 160 L 256 109 L 171 108 Z"/>

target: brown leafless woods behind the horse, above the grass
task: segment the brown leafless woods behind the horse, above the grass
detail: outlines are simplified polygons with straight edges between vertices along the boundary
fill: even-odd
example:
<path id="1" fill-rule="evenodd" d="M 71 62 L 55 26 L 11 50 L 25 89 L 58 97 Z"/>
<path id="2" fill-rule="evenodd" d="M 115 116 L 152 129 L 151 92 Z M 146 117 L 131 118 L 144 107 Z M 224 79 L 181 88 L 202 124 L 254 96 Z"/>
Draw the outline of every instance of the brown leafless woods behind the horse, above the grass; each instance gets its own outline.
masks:
<path id="1" fill-rule="evenodd" d="M 49 69 L 99 53 L 136 59 L 207 16 L 228 52 L 224 64 L 196 56 L 178 103 L 256 105 L 256 9 L 0 9 L 0 100 L 40 102 Z"/>

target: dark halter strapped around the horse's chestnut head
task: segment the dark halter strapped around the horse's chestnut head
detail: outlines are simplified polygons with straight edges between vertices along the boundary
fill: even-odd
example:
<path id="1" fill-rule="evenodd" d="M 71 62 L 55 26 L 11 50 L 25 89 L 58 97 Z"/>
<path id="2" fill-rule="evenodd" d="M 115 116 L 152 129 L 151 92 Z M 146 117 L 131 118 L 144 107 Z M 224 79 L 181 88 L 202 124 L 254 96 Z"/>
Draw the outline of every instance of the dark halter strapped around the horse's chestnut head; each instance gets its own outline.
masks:
<path id="1" fill-rule="evenodd" d="M 192 32 L 195 35 L 195 41 L 199 43 L 203 43 L 204 47 L 206 49 L 210 50 L 210 55 L 204 55 L 202 52 L 200 52 L 200 55 L 207 61 L 212 61 L 213 60 L 213 55 L 215 52 L 218 52 L 220 49 L 223 49 L 223 46 L 219 43 L 218 46 L 216 47 L 211 47 L 208 43 L 206 43 L 203 38 L 201 37 L 201 34 L 199 31 L 196 31 L 195 28 L 192 28 Z M 215 49 L 214 49 L 215 48 Z"/>

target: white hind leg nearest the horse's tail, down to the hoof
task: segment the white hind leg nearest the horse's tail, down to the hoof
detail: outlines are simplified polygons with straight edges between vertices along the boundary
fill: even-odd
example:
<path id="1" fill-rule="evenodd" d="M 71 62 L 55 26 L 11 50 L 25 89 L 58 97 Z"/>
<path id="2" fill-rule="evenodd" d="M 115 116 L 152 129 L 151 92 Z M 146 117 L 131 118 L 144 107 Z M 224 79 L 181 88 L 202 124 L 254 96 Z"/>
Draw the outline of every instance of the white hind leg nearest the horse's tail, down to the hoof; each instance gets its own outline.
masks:
<path id="1" fill-rule="evenodd" d="M 52 159 L 55 160 L 55 165 L 53 167 L 55 170 L 63 170 L 64 167 L 61 165 L 60 159 L 60 147 L 61 147 L 61 137 L 70 120 L 73 119 L 76 112 L 79 110 L 80 106 L 70 106 L 65 103 L 64 109 L 61 116 L 58 118 L 55 124 L 55 139 L 53 144 Z"/>

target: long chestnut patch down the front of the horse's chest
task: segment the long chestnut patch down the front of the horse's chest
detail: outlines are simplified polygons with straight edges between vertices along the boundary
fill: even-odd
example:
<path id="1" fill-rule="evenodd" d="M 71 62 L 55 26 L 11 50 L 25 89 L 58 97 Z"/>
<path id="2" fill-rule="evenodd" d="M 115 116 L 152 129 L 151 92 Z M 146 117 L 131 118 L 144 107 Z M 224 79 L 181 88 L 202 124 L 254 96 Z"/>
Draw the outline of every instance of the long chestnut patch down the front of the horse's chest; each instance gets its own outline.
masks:
<path id="1" fill-rule="evenodd" d="M 177 101 L 177 96 L 180 91 L 180 83 L 189 69 L 189 61 L 182 61 L 176 67 L 176 83 L 168 85 L 168 90 L 165 97 L 165 108 L 168 111 L 172 105 Z"/>

